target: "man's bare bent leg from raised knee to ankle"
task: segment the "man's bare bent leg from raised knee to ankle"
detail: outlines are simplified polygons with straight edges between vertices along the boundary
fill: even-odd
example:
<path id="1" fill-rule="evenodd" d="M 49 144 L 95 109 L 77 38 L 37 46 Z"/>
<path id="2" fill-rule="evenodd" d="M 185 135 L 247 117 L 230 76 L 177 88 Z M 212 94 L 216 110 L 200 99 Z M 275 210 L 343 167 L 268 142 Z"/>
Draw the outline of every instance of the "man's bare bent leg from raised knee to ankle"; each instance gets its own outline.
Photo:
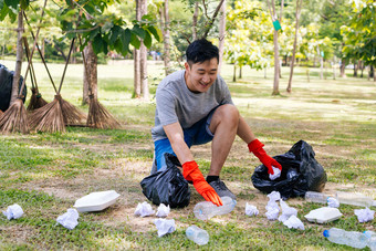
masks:
<path id="1" fill-rule="evenodd" d="M 219 176 L 237 136 L 239 117 L 239 111 L 234 105 L 221 105 L 215 111 L 209 126 L 215 137 L 211 143 L 208 176 Z"/>

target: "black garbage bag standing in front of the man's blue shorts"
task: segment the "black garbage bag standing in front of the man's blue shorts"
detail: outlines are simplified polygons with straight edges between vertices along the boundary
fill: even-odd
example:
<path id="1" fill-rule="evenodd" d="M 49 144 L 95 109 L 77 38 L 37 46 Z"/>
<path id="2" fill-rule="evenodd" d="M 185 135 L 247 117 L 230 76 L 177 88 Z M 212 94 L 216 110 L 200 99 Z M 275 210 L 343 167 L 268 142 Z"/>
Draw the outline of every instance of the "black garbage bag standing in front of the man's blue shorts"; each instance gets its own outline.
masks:
<path id="1" fill-rule="evenodd" d="M 177 166 L 178 158 L 165 154 L 167 168 L 157 171 L 140 181 L 143 194 L 155 205 L 169 205 L 170 208 L 182 208 L 189 205 L 190 189 L 187 180 Z"/>

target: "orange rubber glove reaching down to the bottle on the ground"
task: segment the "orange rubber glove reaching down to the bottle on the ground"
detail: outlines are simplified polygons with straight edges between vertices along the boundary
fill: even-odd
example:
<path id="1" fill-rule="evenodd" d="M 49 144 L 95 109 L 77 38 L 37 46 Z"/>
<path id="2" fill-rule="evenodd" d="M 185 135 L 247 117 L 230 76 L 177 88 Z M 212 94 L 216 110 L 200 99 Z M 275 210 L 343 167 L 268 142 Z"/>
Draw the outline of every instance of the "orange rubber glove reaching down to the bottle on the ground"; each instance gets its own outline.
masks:
<path id="1" fill-rule="evenodd" d="M 211 201 L 217 206 L 222 206 L 221 198 L 217 195 L 216 190 L 205 180 L 198 165 L 195 160 L 182 164 L 182 176 L 188 181 L 194 182 L 194 187 L 203 199 Z"/>

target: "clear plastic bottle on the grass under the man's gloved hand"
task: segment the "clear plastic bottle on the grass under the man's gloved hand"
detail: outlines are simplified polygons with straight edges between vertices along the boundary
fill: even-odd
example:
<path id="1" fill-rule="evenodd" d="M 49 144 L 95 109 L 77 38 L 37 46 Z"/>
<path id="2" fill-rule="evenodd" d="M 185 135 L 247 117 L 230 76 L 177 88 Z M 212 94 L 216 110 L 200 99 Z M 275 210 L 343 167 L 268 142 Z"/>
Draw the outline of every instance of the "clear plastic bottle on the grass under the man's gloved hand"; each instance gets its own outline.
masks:
<path id="1" fill-rule="evenodd" d="M 207 220 L 215 216 L 226 215 L 233 210 L 237 201 L 231 199 L 230 197 L 221 197 L 222 205 L 218 207 L 210 201 L 202 201 L 195 206 L 194 213 L 199 220 Z"/>

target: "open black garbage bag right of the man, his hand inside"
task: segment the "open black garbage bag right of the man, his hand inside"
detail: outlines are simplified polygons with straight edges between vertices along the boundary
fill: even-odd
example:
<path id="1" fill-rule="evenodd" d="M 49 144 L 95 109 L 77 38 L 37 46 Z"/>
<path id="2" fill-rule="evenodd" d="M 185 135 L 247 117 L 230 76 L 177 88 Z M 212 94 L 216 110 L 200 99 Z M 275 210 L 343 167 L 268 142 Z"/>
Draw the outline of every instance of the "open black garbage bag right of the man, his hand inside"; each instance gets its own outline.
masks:
<path id="1" fill-rule="evenodd" d="M 260 165 L 252 175 L 253 186 L 268 194 L 279 191 L 283 199 L 304 196 L 306 191 L 322 191 L 327 177 L 314 156 L 312 146 L 300 140 L 288 153 L 273 157 L 282 166 L 281 177 L 271 180 L 268 168 Z"/>

